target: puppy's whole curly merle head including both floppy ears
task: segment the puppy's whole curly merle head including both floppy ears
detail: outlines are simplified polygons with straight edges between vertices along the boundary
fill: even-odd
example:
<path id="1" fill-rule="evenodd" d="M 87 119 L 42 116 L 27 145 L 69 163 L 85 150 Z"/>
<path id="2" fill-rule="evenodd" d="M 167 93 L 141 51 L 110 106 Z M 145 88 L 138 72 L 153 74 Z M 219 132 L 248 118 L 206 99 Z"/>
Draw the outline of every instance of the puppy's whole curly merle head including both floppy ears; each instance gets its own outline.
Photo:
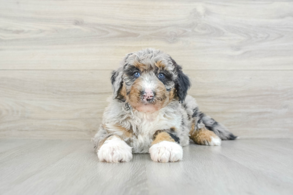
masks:
<path id="1" fill-rule="evenodd" d="M 141 112 L 155 112 L 171 101 L 184 101 L 190 81 L 169 55 L 154 49 L 129 53 L 111 77 L 114 99 L 125 99 Z"/>

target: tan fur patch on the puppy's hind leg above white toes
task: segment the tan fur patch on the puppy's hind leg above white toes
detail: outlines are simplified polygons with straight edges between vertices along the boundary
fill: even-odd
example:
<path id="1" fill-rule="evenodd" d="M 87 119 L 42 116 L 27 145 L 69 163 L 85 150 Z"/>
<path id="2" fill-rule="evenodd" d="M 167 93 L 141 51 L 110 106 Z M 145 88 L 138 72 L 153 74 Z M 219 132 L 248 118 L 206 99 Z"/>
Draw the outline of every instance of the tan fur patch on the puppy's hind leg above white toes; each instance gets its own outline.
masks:
<path id="1" fill-rule="evenodd" d="M 207 130 L 206 128 L 190 131 L 190 138 L 196 144 L 206 145 L 206 142 L 211 142 L 212 137 L 216 138 L 217 135 L 213 131 Z"/>

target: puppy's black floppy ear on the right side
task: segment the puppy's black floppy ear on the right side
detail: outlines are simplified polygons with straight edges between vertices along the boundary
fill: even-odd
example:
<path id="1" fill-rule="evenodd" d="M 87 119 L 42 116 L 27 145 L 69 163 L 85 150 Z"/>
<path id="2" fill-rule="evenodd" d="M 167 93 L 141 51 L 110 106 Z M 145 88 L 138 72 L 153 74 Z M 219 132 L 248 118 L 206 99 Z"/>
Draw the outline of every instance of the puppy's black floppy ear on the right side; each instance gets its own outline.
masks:
<path id="1" fill-rule="evenodd" d="M 179 101 L 183 102 L 187 96 L 187 91 L 190 88 L 190 81 L 188 76 L 182 72 L 182 67 L 178 65 L 173 59 L 172 62 L 178 74 L 175 82 L 175 89 L 177 90 Z"/>

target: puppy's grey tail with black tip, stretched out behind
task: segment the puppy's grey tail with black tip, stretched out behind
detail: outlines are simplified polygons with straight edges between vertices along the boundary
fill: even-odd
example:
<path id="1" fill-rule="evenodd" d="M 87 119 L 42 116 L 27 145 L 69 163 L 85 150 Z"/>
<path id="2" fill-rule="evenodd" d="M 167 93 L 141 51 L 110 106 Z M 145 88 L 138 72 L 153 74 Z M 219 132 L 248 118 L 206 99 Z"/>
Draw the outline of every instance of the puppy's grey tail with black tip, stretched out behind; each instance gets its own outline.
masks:
<path id="1" fill-rule="evenodd" d="M 205 113 L 199 114 L 199 120 L 205 124 L 208 130 L 213 131 L 222 140 L 234 140 L 237 136 L 234 136 L 224 125 L 216 122 L 210 116 L 205 115 Z"/>

